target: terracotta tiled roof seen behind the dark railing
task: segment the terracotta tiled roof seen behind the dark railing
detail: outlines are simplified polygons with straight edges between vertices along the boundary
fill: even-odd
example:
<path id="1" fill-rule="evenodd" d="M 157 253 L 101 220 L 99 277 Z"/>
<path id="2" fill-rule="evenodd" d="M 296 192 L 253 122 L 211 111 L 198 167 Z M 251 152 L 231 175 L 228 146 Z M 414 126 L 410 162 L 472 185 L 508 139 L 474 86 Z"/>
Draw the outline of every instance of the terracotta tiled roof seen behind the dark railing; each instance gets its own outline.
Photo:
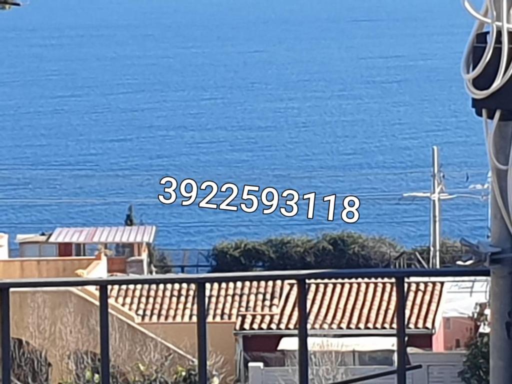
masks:
<path id="1" fill-rule="evenodd" d="M 396 329 L 392 280 L 308 282 L 309 327 L 314 330 Z M 409 282 L 407 324 L 433 330 L 443 283 Z M 236 322 L 239 331 L 294 330 L 294 281 L 207 284 L 208 321 Z M 195 284 L 112 286 L 110 297 L 141 322 L 195 322 Z"/>

